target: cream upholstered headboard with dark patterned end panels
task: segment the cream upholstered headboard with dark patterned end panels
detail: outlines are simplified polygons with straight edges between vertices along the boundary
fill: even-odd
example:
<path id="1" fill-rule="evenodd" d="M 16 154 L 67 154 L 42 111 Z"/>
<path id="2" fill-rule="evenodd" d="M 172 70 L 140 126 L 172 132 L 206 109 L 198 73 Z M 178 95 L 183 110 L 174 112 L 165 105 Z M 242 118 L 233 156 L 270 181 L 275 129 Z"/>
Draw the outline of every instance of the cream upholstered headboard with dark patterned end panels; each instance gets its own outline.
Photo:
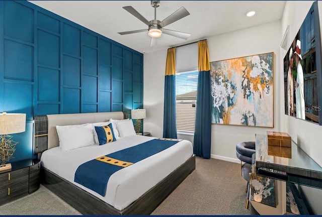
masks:
<path id="1" fill-rule="evenodd" d="M 39 154 L 47 149 L 59 146 L 59 139 L 56 131 L 57 125 L 79 125 L 96 122 L 107 122 L 110 119 L 121 120 L 127 118 L 127 112 L 80 113 L 35 116 L 34 154 Z"/>

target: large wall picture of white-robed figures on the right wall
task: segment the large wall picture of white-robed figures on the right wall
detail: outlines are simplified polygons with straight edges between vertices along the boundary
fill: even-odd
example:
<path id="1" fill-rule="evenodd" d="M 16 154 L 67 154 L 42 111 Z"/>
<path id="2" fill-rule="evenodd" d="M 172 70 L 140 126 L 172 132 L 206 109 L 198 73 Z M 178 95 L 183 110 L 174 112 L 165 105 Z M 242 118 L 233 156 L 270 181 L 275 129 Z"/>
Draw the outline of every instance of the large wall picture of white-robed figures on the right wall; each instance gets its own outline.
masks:
<path id="1" fill-rule="evenodd" d="M 322 52 L 317 2 L 309 9 L 283 62 L 285 115 L 322 125 Z"/>

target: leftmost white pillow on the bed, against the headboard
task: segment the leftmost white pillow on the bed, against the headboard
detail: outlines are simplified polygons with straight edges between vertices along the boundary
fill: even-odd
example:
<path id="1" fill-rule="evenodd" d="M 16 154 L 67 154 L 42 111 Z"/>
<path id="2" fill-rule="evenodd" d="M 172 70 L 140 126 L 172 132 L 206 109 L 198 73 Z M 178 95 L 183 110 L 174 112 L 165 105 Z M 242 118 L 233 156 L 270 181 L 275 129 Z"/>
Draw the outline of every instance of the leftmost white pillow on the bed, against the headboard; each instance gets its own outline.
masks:
<path id="1" fill-rule="evenodd" d="M 56 126 L 56 130 L 63 151 L 95 145 L 92 124 Z"/>

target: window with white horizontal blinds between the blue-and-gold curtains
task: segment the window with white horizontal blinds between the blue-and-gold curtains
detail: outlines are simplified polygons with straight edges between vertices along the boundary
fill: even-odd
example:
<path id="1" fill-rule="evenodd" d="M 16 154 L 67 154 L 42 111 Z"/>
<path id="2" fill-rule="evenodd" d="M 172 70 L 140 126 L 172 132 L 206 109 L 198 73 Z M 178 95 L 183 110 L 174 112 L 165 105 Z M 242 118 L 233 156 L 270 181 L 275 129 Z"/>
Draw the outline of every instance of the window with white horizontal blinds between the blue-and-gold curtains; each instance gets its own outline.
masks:
<path id="1" fill-rule="evenodd" d="M 177 131 L 195 132 L 198 71 L 176 74 Z"/>

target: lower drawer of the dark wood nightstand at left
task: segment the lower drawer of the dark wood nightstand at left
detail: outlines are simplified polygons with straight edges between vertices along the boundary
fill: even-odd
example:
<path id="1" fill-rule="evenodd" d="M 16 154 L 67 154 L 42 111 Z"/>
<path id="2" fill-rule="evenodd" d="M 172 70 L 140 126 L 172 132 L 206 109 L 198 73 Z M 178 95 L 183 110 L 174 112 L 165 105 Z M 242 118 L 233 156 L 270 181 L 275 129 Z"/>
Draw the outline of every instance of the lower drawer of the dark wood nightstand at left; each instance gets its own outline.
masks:
<path id="1" fill-rule="evenodd" d="M 28 195 L 28 180 L 8 188 L 0 189 L 0 204 L 13 201 L 26 195 Z"/>

